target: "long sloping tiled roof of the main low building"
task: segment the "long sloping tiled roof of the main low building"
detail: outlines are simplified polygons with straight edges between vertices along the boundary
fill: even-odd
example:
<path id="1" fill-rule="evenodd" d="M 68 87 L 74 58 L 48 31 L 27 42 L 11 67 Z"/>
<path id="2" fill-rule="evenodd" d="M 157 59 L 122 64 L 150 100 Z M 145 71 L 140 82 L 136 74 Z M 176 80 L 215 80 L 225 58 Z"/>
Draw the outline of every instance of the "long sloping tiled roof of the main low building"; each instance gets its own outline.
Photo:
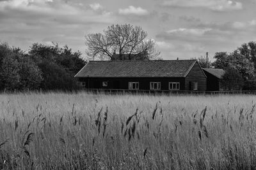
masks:
<path id="1" fill-rule="evenodd" d="M 90 61 L 75 77 L 186 77 L 196 60 Z"/>

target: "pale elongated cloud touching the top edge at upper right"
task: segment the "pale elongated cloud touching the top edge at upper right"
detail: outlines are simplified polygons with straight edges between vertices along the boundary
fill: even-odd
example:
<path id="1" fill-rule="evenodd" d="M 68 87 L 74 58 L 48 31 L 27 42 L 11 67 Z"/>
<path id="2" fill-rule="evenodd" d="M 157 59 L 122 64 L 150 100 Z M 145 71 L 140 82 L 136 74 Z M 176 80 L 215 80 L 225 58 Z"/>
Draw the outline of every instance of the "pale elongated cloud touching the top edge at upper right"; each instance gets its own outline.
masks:
<path id="1" fill-rule="evenodd" d="M 175 7 L 200 7 L 209 8 L 213 11 L 241 10 L 243 4 L 231 0 L 170 0 L 164 1 L 163 6 Z"/>

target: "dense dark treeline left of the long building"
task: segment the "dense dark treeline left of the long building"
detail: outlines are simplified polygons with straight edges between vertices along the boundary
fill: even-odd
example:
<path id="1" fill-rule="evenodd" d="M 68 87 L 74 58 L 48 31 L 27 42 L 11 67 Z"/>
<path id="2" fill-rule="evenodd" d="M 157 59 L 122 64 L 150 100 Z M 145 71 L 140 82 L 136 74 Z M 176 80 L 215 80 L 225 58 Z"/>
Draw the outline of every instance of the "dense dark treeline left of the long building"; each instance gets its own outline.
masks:
<path id="1" fill-rule="evenodd" d="M 0 43 L 0 90 L 75 90 L 74 75 L 84 64 L 68 46 L 34 43 L 24 52 Z"/>

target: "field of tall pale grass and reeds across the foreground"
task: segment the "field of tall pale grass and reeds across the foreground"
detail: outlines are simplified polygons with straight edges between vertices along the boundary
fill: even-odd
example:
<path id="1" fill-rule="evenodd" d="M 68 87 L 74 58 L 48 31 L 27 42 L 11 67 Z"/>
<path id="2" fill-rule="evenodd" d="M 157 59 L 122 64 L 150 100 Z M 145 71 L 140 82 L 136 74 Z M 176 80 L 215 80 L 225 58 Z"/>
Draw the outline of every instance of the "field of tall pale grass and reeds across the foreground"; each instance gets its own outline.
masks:
<path id="1" fill-rule="evenodd" d="M 1 169 L 256 169 L 256 96 L 1 94 Z"/>

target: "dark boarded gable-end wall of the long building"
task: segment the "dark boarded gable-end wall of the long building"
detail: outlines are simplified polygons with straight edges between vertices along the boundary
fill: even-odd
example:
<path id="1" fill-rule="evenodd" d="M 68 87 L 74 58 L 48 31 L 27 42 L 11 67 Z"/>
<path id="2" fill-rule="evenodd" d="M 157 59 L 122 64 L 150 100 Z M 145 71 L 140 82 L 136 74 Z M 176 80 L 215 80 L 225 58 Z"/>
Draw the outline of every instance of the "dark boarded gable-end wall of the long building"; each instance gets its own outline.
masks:
<path id="1" fill-rule="evenodd" d="M 198 91 L 206 90 L 207 78 L 205 77 L 204 71 L 202 71 L 198 62 L 195 63 L 191 71 L 189 71 L 188 75 L 186 76 L 185 90 L 193 90 L 191 89 L 191 83 L 194 81 L 198 82 Z"/>

